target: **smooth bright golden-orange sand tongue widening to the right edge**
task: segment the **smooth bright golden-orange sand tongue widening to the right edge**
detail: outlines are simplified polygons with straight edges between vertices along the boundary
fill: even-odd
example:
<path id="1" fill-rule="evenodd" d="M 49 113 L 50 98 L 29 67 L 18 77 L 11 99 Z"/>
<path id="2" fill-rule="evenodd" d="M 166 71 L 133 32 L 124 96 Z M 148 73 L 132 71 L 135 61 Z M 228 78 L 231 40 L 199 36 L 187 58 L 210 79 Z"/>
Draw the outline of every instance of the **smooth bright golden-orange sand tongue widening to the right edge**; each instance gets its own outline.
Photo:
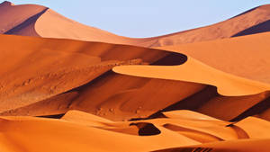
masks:
<path id="1" fill-rule="evenodd" d="M 218 87 L 219 94 L 226 96 L 259 94 L 270 91 L 270 85 L 268 84 L 223 73 L 203 65 L 193 58 L 188 58 L 180 66 L 121 66 L 113 67 L 112 70 L 116 73 L 130 76 L 154 77 L 215 85 Z"/>

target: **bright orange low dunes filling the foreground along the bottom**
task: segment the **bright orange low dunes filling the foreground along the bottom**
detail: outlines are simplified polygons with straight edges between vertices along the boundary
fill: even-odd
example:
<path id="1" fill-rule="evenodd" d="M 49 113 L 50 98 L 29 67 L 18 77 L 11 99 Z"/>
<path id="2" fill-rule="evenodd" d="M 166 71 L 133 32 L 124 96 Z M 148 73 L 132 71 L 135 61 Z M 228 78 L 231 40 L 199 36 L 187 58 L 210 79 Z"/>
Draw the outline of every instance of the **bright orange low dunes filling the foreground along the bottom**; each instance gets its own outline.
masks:
<path id="1" fill-rule="evenodd" d="M 71 111 L 61 120 L 1 117 L 1 150 L 21 151 L 154 151 L 163 148 L 211 148 L 213 151 L 268 149 L 269 134 L 253 138 L 242 127 L 269 122 L 230 124 L 195 112 L 178 111 L 184 118 L 148 121 L 108 121 L 89 113 Z M 171 112 L 173 113 L 173 112 Z M 177 112 L 175 112 L 177 114 Z M 193 115 L 200 118 L 193 118 Z M 202 119 L 203 118 L 203 119 Z M 259 121 L 259 120 L 258 120 Z M 264 129 L 267 132 L 267 129 Z M 263 129 L 261 129 L 263 131 Z M 242 139 L 238 141 L 236 139 Z M 225 140 L 225 142 L 224 142 Z M 166 142 L 165 142 L 166 141 Z M 218 142 L 222 141 L 222 142 Z M 102 146 L 101 146 L 102 143 Z M 243 146 L 248 143 L 247 146 Z M 43 147 L 46 145 L 46 147 Z M 252 147 L 251 147 L 252 146 Z M 251 147 L 251 148 L 249 148 Z M 256 148 L 254 148 L 256 147 Z M 170 151 L 170 150 L 165 150 Z"/>

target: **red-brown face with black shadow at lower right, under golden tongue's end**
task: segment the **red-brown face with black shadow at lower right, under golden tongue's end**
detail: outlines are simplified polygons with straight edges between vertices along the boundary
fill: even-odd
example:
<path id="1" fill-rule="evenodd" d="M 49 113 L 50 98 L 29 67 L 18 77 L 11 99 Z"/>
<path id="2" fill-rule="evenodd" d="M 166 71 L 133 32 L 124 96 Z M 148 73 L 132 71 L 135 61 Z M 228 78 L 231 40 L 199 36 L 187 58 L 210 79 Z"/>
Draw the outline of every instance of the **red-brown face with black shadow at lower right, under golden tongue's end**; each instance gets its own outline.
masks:
<path id="1" fill-rule="evenodd" d="M 209 86 L 183 101 L 171 104 L 165 109 L 151 114 L 148 118 L 162 117 L 162 112 L 192 110 L 220 120 L 240 121 L 248 116 L 266 112 L 269 95 L 265 96 L 264 94 L 229 97 L 218 94 L 215 87 Z"/>

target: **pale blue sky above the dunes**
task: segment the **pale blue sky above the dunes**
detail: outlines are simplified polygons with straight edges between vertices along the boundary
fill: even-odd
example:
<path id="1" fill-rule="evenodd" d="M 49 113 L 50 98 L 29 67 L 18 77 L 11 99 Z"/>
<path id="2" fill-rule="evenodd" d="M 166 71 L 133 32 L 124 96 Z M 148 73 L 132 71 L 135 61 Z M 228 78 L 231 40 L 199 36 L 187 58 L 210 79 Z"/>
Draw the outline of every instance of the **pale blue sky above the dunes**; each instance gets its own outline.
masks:
<path id="1" fill-rule="evenodd" d="M 42 4 L 86 25 L 128 37 L 152 37 L 226 20 L 270 0 L 13 0 Z"/>

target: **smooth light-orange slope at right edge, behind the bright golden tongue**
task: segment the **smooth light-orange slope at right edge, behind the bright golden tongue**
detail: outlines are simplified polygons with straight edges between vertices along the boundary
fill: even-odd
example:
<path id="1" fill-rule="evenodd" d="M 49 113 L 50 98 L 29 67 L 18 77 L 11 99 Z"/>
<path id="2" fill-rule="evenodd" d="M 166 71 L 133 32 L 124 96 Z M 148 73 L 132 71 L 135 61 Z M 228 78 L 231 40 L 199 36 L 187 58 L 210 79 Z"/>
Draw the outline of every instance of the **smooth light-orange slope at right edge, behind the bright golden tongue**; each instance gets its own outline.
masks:
<path id="1" fill-rule="evenodd" d="M 224 72 L 270 83 L 270 32 L 233 39 L 161 47 L 184 53 Z"/>

